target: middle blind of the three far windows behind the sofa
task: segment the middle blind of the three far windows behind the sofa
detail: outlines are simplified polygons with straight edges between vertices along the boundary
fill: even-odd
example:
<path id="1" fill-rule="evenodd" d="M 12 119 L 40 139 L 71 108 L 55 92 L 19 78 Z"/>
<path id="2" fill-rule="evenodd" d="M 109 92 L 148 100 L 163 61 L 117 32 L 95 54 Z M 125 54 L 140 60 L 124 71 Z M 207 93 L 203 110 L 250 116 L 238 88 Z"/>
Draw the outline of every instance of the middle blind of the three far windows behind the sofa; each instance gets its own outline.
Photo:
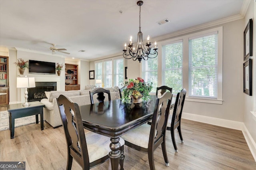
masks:
<path id="1" fill-rule="evenodd" d="M 112 87 L 112 60 L 104 61 L 103 83 L 104 88 Z"/>

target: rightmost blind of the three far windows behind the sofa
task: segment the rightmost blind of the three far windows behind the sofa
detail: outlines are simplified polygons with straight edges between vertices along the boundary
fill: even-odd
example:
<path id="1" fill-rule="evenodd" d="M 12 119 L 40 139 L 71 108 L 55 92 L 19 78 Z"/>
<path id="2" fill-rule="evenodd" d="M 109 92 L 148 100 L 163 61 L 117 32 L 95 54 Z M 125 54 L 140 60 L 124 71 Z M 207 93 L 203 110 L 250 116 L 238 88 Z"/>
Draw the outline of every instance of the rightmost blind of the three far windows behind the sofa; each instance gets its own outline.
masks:
<path id="1" fill-rule="evenodd" d="M 124 82 L 124 59 L 114 59 L 114 86 L 122 87 Z"/>

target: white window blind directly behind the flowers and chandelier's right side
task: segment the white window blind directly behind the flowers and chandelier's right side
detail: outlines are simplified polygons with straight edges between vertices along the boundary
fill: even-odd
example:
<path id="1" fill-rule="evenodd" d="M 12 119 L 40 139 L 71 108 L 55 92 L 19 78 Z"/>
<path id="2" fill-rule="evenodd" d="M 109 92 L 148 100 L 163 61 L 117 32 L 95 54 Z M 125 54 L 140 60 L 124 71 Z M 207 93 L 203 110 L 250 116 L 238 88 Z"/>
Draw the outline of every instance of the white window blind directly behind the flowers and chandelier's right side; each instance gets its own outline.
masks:
<path id="1" fill-rule="evenodd" d="M 152 53 L 154 50 L 151 50 Z M 152 84 L 151 92 L 156 92 L 157 87 L 157 69 L 158 69 L 158 57 L 149 58 L 147 61 L 142 60 L 142 79 Z M 137 77 L 134 77 L 137 78 Z"/>

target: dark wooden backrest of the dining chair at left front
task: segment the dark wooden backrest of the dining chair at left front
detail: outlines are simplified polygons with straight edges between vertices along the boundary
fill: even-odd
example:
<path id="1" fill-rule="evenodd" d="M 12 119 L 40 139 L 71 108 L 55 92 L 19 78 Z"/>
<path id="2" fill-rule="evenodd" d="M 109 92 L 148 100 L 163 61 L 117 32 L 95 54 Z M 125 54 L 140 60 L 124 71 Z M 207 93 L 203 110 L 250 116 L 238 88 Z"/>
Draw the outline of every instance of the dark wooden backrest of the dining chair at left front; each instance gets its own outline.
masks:
<path id="1" fill-rule="evenodd" d="M 66 136 L 68 153 L 72 154 L 73 152 L 70 152 L 70 150 L 73 150 L 76 155 L 72 155 L 72 157 L 82 167 L 86 164 L 89 165 L 88 149 L 78 104 L 73 103 L 64 95 L 58 97 L 57 103 Z"/>

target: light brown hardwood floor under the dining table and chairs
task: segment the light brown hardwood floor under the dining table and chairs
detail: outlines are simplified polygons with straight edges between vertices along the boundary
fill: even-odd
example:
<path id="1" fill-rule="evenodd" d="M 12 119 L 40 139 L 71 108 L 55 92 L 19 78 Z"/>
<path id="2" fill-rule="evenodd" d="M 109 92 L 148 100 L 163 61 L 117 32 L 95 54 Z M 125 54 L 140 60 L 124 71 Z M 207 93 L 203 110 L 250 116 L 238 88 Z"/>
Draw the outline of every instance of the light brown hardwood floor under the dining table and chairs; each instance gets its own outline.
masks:
<path id="1" fill-rule="evenodd" d="M 255 170 L 256 162 L 241 131 L 182 119 L 184 144 L 176 130 L 174 151 L 170 131 L 166 148 L 170 167 L 166 167 L 161 148 L 154 152 L 156 170 Z M 63 128 L 53 129 L 49 124 L 40 130 L 40 124 L 0 131 L 0 161 L 25 161 L 26 170 L 66 169 L 66 140 Z M 148 156 L 124 147 L 126 170 L 148 170 Z M 74 160 L 72 170 L 82 169 Z M 110 161 L 92 169 L 111 169 Z"/>

